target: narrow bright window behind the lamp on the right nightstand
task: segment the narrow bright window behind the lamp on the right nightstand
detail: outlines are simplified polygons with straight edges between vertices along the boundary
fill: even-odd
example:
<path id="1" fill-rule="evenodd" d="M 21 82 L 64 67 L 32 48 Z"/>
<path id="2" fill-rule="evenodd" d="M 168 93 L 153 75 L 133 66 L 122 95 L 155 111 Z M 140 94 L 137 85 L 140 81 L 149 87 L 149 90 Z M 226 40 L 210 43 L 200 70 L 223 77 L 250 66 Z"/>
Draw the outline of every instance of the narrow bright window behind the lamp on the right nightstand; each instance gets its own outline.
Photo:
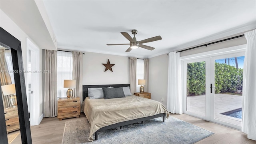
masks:
<path id="1" fill-rule="evenodd" d="M 144 79 L 144 60 L 137 59 L 137 68 L 136 68 L 136 92 L 140 91 L 140 85 L 138 85 L 138 80 Z"/>

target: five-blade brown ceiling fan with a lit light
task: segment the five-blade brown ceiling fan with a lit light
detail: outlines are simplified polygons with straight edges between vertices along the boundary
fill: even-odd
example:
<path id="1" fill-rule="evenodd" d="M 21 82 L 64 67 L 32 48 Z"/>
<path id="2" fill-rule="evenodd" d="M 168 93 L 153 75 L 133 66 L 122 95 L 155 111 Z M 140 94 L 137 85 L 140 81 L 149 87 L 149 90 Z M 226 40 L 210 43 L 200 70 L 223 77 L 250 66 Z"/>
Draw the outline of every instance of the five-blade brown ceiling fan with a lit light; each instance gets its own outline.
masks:
<path id="1" fill-rule="evenodd" d="M 137 34 L 137 30 L 132 30 L 132 34 L 134 35 L 134 37 L 132 38 L 127 32 L 121 32 L 121 34 L 127 38 L 127 40 L 130 41 L 130 47 L 125 51 L 125 52 L 130 52 L 132 49 L 136 49 L 136 48 L 145 48 L 147 50 L 154 50 L 155 48 L 151 47 L 151 46 L 146 46 L 144 45 L 144 43 L 146 42 L 154 42 L 156 40 L 162 40 L 161 36 L 155 36 L 152 38 L 148 38 L 145 40 L 141 40 L 141 41 L 137 41 L 135 38 L 135 34 Z M 116 45 L 126 45 L 126 44 L 107 44 L 108 46 L 116 46 Z"/>

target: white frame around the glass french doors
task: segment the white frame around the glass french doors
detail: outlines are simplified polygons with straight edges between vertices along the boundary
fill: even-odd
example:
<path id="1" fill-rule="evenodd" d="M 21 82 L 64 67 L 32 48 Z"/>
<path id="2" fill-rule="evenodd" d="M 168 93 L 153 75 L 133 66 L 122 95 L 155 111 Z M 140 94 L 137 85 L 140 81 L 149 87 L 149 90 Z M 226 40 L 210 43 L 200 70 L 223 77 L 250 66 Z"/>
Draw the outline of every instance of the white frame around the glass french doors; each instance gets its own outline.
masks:
<path id="1" fill-rule="evenodd" d="M 245 51 L 245 48 L 246 48 L 246 44 L 243 44 L 243 45 L 239 45 L 239 46 L 232 46 L 232 47 L 229 47 L 229 48 L 222 48 L 222 49 L 219 49 L 219 50 L 212 50 L 212 51 L 208 51 L 208 52 L 202 52 L 202 53 L 198 53 L 198 54 L 192 54 L 192 55 L 187 55 L 187 56 L 181 56 L 180 57 L 180 60 L 181 60 L 181 68 L 182 68 L 182 99 L 183 99 L 183 113 L 184 114 L 188 114 L 188 115 L 191 115 L 191 116 L 194 116 L 194 117 L 197 117 L 197 118 L 201 118 L 201 119 L 204 119 L 204 120 L 207 120 L 207 121 L 210 121 L 210 122 L 214 122 L 214 123 L 217 123 L 217 124 L 221 124 L 221 125 L 224 125 L 224 126 L 228 126 L 228 127 L 231 127 L 231 128 L 235 128 L 235 129 L 238 129 L 238 130 L 241 130 L 241 128 L 238 126 L 235 126 L 235 125 L 229 125 L 229 124 L 224 124 L 224 123 L 220 123 L 216 120 L 214 120 L 214 104 L 212 103 L 212 99 L 214 100 L 214 97 L 212 96 L 214 93 L 210 94 L 210 102 L 209 102 L 209 111 L 208 113 L 210 113 L 210 117 L 209 119 L 206 117 L 202 117 L 202 116 L 199 116 L 199 115 L 195 115 L 195 114 L 191 114 L 190 112 L 186 112 L 186 72 L 185 72 L 185 65 L 187 62 L 193 62 L 196 61 L 196 59 L 201 59 L 203 60 L 204 58 L 210 58 L 210 63 L 212 64 L 213 62 L 213 59 L 212 57 L 216 57 L 216 56 L 221 56 L 221 55 L 224 55 L 224 54 L 234 54 L 234 53 L 239 53 L 239 52 L 244 52 Z M 213 69 L 214 70 L 214 69 Z M 212 71 L 210 69 L 210 71 Z M 207 86 L 207 83 L 206 83 L 206 88 L 209 87 L 210 88 L 210 82 L 212 82 L 212 78 L 210 78 L 210 81 L 208 83 L 209 86 Z M 212 83 L 213 84 L 213 83 Z M 210 89 L 209 89 L 210 91 Z M 213 101 L 214 102 L 214 101 Z M 207 111 L 206 111 L 207 112 Z"/>

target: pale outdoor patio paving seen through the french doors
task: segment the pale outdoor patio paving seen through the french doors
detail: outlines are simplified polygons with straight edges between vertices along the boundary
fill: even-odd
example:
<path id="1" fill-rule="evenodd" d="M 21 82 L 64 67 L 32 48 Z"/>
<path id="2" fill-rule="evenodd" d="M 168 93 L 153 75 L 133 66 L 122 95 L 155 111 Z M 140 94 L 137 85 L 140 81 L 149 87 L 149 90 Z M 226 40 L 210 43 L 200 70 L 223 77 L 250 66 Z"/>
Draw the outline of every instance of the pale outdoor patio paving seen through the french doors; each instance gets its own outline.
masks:
<path id="1" fill-rule="evenodd" d="M 242 96 L 232 94 L 215 94 L 214 105 L 215 119 L 241 126 L 241 119 L 225 116 L 221 113 L 242 108 Z M 188 96 L 187 111 L 205 116 L 205 95 Z"/>

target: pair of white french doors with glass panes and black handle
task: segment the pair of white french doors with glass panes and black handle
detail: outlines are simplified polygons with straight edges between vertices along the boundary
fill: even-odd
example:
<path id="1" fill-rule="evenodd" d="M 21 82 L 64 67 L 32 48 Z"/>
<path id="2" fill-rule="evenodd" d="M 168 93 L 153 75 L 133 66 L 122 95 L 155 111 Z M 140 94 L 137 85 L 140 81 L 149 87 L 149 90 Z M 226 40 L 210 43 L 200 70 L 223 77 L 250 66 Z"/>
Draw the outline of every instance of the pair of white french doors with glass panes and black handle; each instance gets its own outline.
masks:
<path id="1" fill-rule="evenodd" d="M 243 63 L 243 50 L 184 60 L 184 113 L 240 130 Z"/>

